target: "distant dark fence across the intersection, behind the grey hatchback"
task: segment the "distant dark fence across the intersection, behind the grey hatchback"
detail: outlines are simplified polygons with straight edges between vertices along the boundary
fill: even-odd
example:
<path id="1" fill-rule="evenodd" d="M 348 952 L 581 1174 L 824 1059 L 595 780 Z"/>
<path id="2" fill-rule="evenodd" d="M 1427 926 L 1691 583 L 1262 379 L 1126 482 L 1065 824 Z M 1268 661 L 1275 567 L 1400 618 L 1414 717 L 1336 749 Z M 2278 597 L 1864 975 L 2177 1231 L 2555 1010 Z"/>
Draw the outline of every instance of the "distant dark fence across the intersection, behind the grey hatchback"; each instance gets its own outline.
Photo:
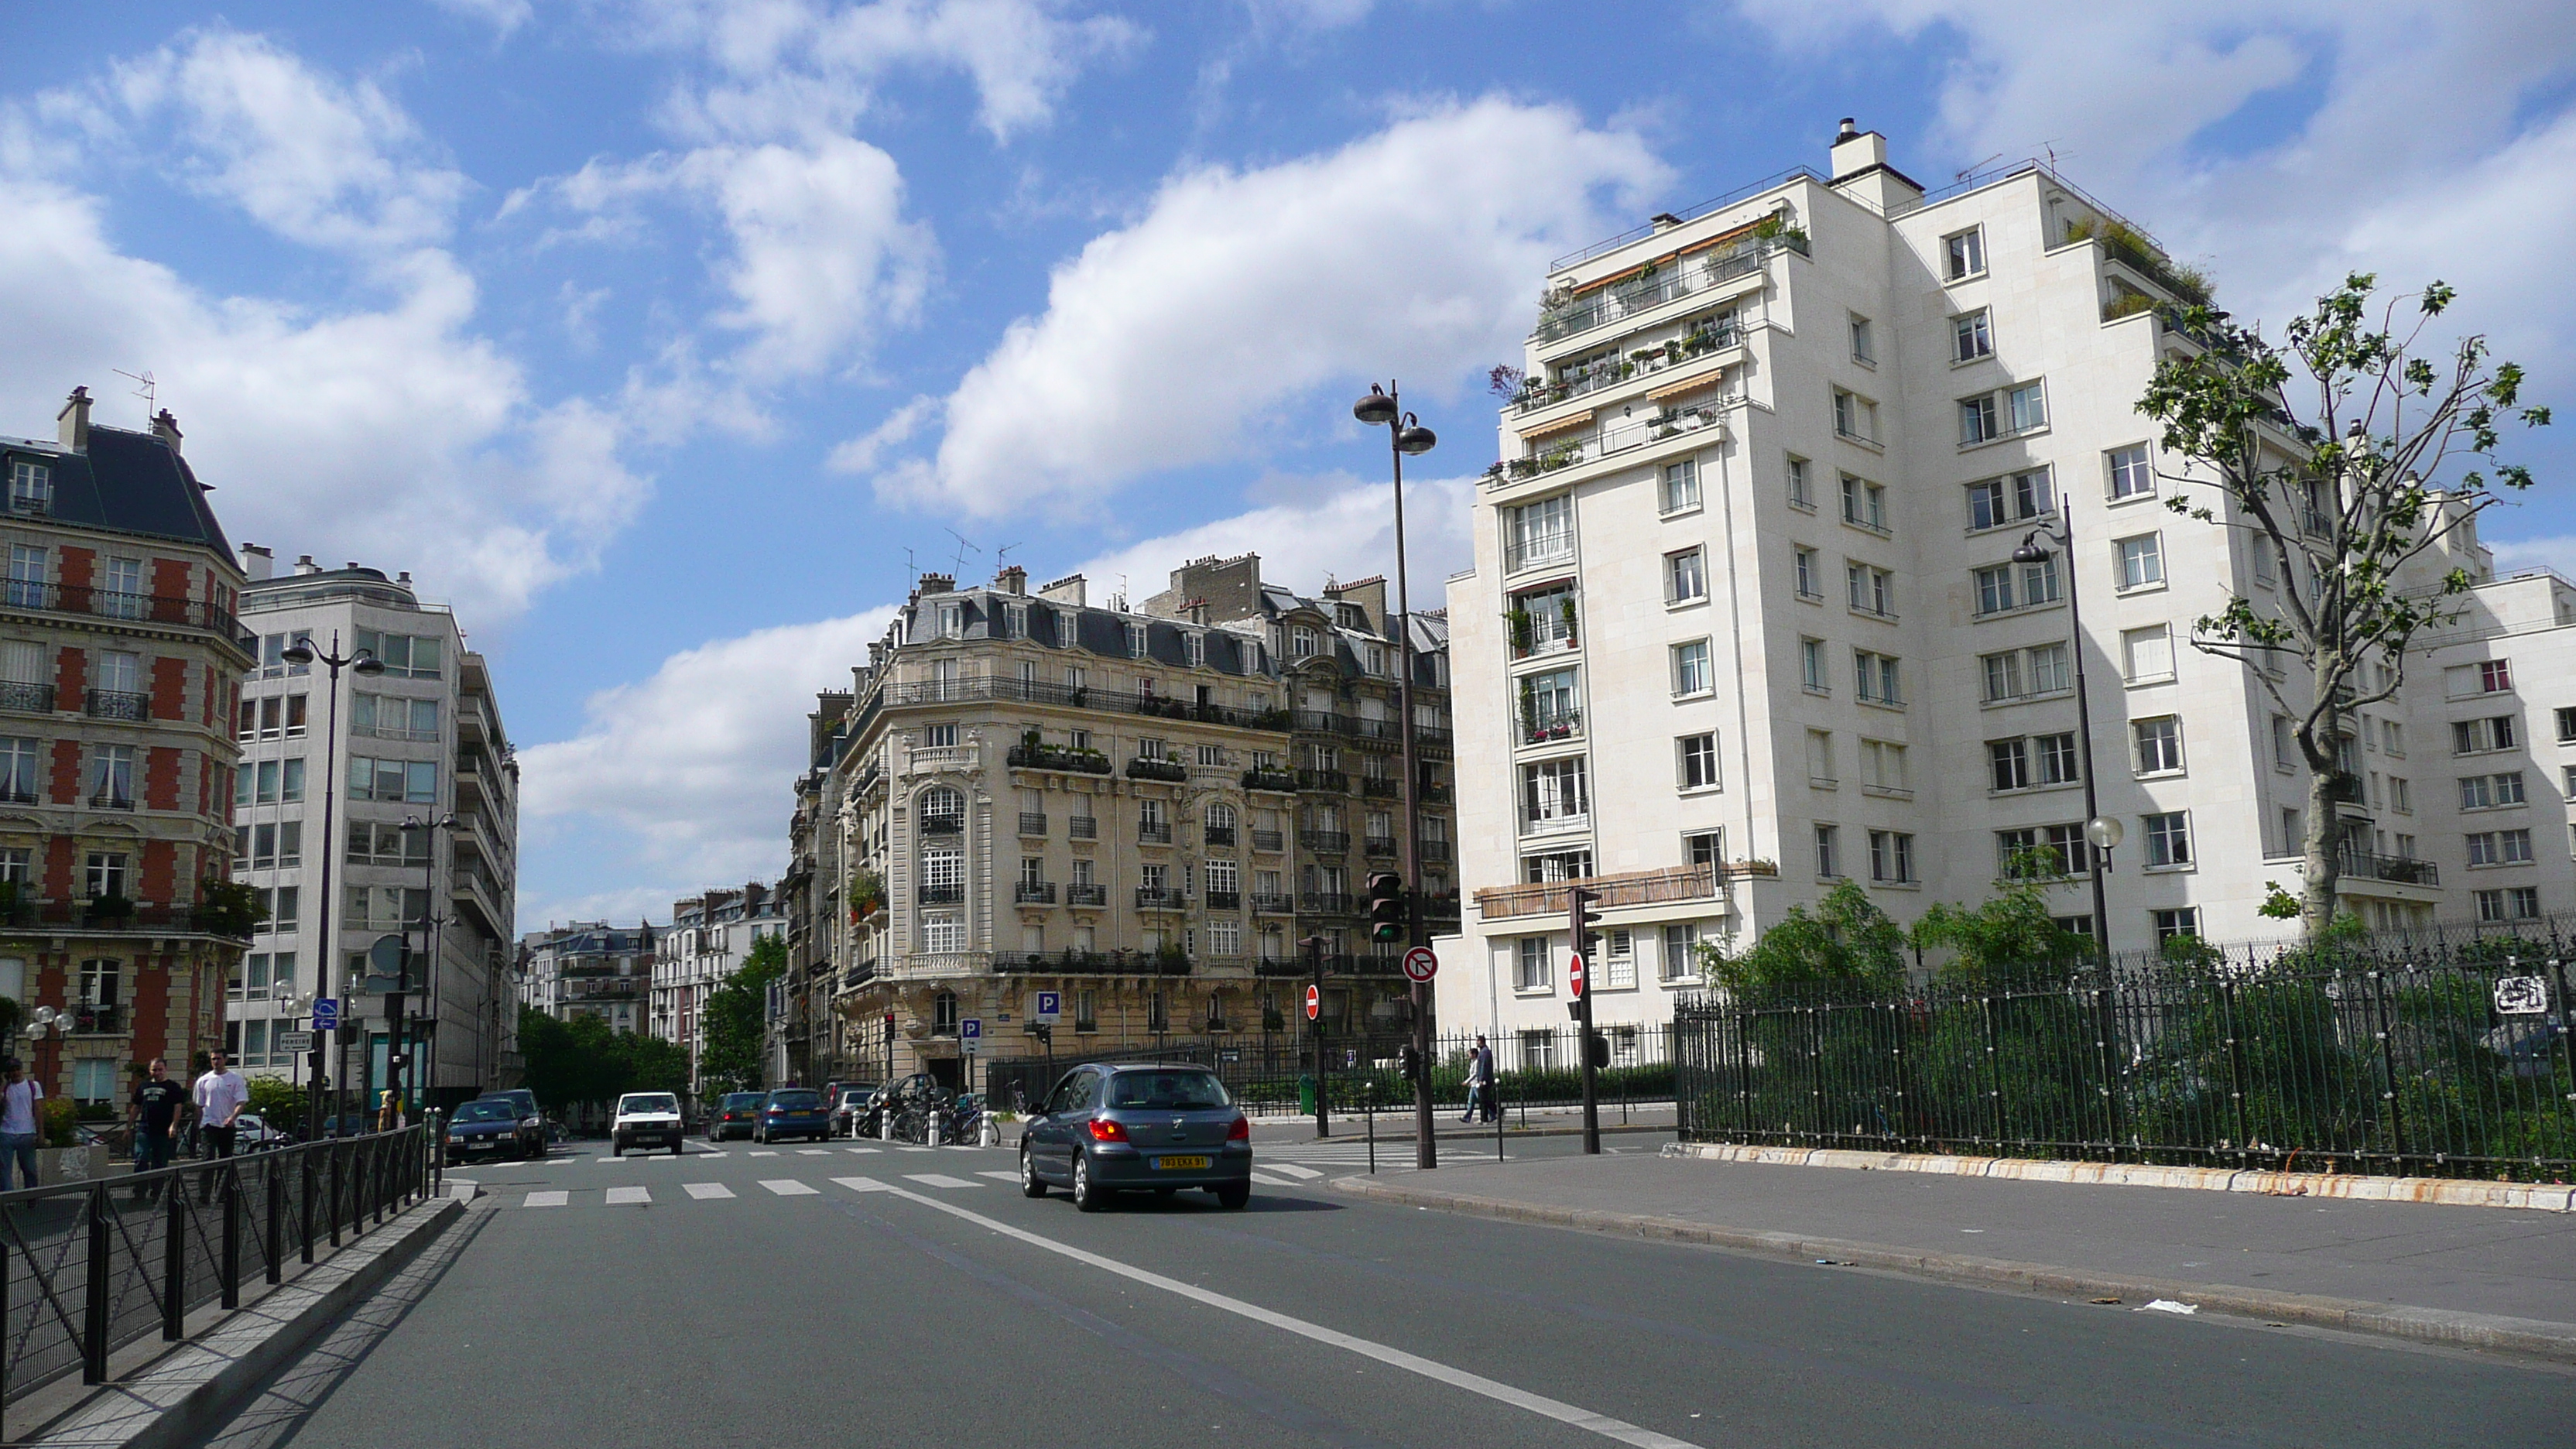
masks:
<path id="1" fill-rule="evenodd" d="M 1600 1101 L 1641 1104 L 1672 1101 L 1672 1029 L 1646 1026 L 1595 1026 L 1610 1044 L 1610 1065 L 1597 1073 Z M 1316 1075 L 1314 1034 L 1298 1024 L 1296 1031 L 1262 1031 L 1234 1042 L 1170 1042 L 1170 1044 L 1090 1044 L 1069 1034 L 1056 1036 L 1066 1049 L 1054 1057 L 1010 1057 L 984 1062 L 976 1088 L 997 1109 L 1015 1109 L 1015 1093 L 1041 1101 L 1059 1075 L 1082 1062 L 1195 1062 L 1213 1070 L 1226 1091 L 1255 1116 L 1311 1111 L 1301 1085 Z M 1401 1047 L 1412 1042 L 1406 1031 L 1324 1034 L 1321 1091 L 1332 1111 L 1352 1111 L 1376 1088 L 1376 1106 L 1409 1104 L 1412 1085 L 1396 1067 Z M 1476 1049 L 1473 1034 L 1448 1034 L 1432 1039 L 1432 1104 L 1448 1111 L 1466 1109 L 1468 1055 Z M 1582 1057 L 1574 1049 L 1574 1026 L 1512 1031 L 1494 1042 L 1494 1078 L 1507 1106 L 1571 1106 L 1584 1098 L 1579 1078 Z"/>

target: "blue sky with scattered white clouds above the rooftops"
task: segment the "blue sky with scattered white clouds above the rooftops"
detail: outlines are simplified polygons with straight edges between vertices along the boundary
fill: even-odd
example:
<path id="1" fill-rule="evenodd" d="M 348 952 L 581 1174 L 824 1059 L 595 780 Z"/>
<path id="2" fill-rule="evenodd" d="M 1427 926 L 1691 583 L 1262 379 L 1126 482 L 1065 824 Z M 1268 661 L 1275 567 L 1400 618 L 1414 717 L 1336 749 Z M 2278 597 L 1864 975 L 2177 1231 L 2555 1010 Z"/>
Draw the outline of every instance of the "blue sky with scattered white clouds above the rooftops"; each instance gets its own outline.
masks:
<path id="1" fill-rule="evenodd" d="M 1546 260 L 1821 168 L 1847 113 L 1927 183 L 2053 155 L 2246 317 L 2450 278 L 2568 407 L 2576 8 L 2120 10 L 26 8 L 0 431 L 72 384 L 139 423 L 149 369 L 237 539 L 410 570 L 495 657 L 520 926 L 659 918 L 778 869 L 907 549 L 1376 572 L 1347 397 L 1399 376 L 1437 580 Z M 2576 438 L 2524 456 L 2488 539 L 2576 565 Z"/>

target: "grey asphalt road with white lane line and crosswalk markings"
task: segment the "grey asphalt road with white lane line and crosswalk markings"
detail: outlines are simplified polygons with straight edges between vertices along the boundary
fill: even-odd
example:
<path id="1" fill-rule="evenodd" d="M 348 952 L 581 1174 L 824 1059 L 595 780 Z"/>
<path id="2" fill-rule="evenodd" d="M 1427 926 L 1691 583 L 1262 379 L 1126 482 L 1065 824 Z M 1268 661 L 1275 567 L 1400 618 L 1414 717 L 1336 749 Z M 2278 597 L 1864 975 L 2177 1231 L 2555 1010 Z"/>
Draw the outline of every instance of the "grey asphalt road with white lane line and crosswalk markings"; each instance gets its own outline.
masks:
<path id="1" fill-rule="evenodd" d="M 1327 1186 L 1365 1155 L 1347 1140 L 1265 1142 L 1293 1186 L 1244 1212 L 1077 1214 L 999 1181 L 1007 1150 L 760 1152 L 466 1173 L 484 1201 L 211 1444 L 2563 1446 L 2576 1423 L 2550 1366 L 1363 1204 Z"/>

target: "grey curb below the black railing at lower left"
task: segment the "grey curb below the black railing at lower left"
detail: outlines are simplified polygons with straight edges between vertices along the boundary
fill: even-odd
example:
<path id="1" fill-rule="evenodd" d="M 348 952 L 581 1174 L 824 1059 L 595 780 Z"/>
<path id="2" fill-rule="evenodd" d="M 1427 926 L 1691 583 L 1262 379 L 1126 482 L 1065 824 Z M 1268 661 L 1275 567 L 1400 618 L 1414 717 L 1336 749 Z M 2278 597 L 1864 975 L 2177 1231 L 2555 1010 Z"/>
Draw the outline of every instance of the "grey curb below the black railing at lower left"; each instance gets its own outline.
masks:
<path id="1" fill-rule="evenodd" d="M 379 1230 L 314 1263 L 265 1297 L 227 1312 L 209 1330 L 173 1343 L 144 1369 L 98 1385 L 59 1413 L 36 1446 L 59 1449 L 178 1449 L 196 1444 L 240 1400 L 294 1361 L 325 1328 L 384 1279 L 420 1256 L 438 1232 L 464 1217 L 459 1199 L 428 1199 Z M 410 1220 L 410 1222 L 404 1222 Z M 335 1281 L 332 1281 L 335 1279 Z"/>

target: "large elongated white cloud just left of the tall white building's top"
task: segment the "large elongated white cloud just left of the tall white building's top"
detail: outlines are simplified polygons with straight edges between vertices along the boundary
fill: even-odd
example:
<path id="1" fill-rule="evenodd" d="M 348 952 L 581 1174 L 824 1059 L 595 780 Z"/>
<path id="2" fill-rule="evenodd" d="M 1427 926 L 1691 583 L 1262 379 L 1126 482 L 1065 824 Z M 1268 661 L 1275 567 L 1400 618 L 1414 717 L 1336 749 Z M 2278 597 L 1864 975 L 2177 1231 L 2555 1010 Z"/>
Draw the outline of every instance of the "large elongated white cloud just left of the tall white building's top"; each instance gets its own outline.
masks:
<path id="1" fill-rule="evenodd" d="M 1170 178 L 1146 214 L 1056 268 L 948 397 L 935 462 L 878 480 L 979 516 L 1082 503 L 1236 454 L 1327 382 L 1435 389 L 1520 356 L 1553 253 L 1667 170 L 1558 106 L 1476 101 L 1260 170 Z"/>

